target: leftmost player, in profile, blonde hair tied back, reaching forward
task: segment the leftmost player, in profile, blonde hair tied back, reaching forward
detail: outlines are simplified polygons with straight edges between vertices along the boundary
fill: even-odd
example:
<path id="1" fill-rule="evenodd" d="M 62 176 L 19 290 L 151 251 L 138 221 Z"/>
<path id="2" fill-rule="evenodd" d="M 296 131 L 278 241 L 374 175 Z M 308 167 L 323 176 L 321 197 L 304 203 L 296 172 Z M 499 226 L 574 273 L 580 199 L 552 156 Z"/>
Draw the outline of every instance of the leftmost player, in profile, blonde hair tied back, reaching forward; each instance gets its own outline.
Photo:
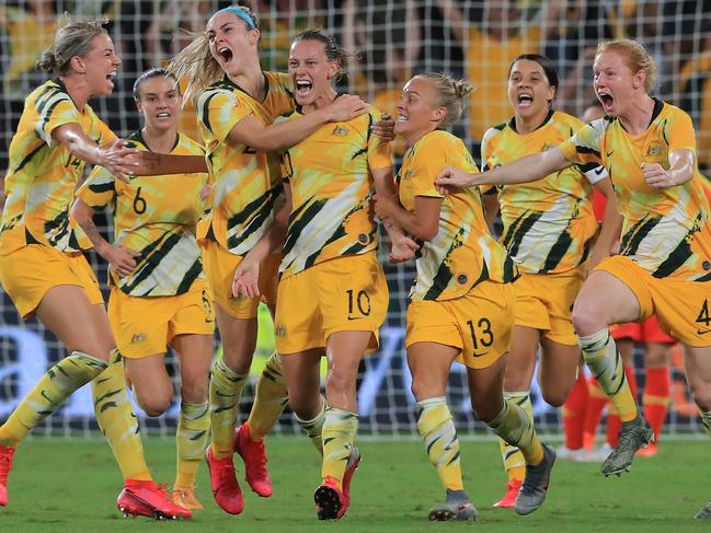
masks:
<path id="1" fill-rule="evenodd" d="M 135 170 L 130 158 L 137 151 L 116 139 L 88 104 L 92 96 L 111 94 L 121 59 L 101 21 L 72 22 L 57 32 L 37 65 L 58 78 L 27 96 L 10 146 L 0 281 L 20 314 L 36 314 L 70 355 L 0 427 L 0 505 L 8 501 L 15 448 L 73 391 L 101 374 L 93 386 L 96 417 L 126 480 L 118 507 L 130 514 L 190 518 L 151 480 L 99 283 L 69 217 L 85 162 L 119 178 Z"/>

